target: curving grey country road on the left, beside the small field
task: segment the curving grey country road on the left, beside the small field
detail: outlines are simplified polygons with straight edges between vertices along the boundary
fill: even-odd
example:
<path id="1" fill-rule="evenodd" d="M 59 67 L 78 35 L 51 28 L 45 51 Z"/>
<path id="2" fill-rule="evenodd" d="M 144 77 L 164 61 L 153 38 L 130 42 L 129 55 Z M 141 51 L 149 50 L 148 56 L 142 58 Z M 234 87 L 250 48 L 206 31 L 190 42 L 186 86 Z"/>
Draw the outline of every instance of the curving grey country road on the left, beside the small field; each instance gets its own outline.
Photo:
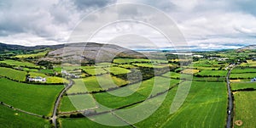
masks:
<path id="1" fill-rule="evenodd" d="M 60 105 L 61 102 L 61 97 L 64 94 L 64 92 L 67 91 L 67 89 L 69 89 L 71 86 L 73 86 L 73 81 L 69 81 L 69 84 L 61 91 L 61 93 L 59 94 L 59 96 L 57 97 L 56 101 L 55 101 L 55 107 L 54 107 L 54 111 L 52 114 L 52 123 L 55 125 L 55 128 L 57 127 L 57 123 L 56 123 L 56 119 L 57 119 L 57 109 Z"/>

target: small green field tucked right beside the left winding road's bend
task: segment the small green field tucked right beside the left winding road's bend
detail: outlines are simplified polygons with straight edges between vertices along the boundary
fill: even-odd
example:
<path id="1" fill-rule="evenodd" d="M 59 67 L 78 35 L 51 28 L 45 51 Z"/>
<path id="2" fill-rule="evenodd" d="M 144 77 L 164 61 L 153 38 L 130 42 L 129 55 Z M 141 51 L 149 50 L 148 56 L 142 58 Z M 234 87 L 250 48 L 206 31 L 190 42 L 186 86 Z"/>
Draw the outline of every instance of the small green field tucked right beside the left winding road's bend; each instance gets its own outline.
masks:
<path id="1" fill-rule="evenodd" d="M 61 112 L 69 112 L 75 110 L 92 109 L 96 107 L 96 103 L 90 94 L 65 96 L 61 99 Z"/>

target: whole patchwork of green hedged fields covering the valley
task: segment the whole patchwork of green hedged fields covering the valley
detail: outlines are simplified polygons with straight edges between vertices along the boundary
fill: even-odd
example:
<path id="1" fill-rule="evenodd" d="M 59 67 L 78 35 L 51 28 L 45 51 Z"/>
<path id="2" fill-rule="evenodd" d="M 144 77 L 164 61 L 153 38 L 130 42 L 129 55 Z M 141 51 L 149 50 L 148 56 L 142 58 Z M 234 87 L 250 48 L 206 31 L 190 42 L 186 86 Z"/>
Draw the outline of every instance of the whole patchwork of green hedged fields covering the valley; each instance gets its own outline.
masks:
<path id="1" fill-rule="evenodd" d="M 169 62 L 161 59 L 114 58 L 113 63 L 70 64 L 63 68 L 67 71 L 65 74 L 60 64 L 38 65 L 26 61 L 26 58 L 40 58 L 46 53 L 48 51 L 20 54 L 15 56 L 17 60 L 0 61 L 3 64 L 0 67 L 0 127 L 113 127 L 108 126 L 112 124 L 117 127 L 154 128 L 226 125 L 226 76 L 230 70 L 226 67 L 231 65 L 228 62 L 213 58 L 183 59 L 182 62 L 191 61 L 191 64 L 181 67 L 177 58 L 169 59 Z M 236 66 L 230 74 L 230 79 L 234 80 L 231 81 L 231 90 L 235 98 L 235 127 L 256 125 L 252 121 L 256 120 L 256 85 L 250 82 L 256 77 L 254 66 L 254 61 L 247 60 L 247 63 Z M 27 81 L 28 76 L 40 76 L 47 81 Z M 182 90 L 184 88 L 189 88 L 189 92 L 182 101 L 179 99 L 186 94 Z M 177 92 L 183 95 L 179 96 Z M 60 103 L 56 102 L 58 97 Z M 171 114 L 171 106 L 179 102 L 182 105 Z M 140 111 L 135 108 L 140 108 Z M 149 114 L 150 109 L 154 109 L 153 114 Z M 147 118 L 141 120 L 143 116 Z M 53 117 L 56 124 L 53 123 Z M 236 125 L 237 120 L 241 120 L 241 126 Z"/>

